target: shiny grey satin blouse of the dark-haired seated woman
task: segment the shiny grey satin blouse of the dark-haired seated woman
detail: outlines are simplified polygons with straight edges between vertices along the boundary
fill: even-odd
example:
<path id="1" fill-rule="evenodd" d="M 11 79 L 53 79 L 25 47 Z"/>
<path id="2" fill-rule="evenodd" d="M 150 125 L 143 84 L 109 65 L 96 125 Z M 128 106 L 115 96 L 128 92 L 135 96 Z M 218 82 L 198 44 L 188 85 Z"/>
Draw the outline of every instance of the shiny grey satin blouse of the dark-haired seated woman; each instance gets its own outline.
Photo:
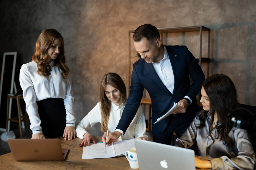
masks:
<path id="1" fill-rule="evenodd" d="M 229 136 L 235 142 L 233 148 L 229 148 L 222 141 L 216 139 L 215 143 L 209 148 L 208 154 L 206 153 L 206 148 L 213 143 L 209 136 L 210 112 L 208 112 L 203 128 L 199 129 L 195 126 L 200 124 L 199 115 L 202 111 L 197 113 L 188 129 L 180 138 L 177 138 L 174 146 L 189 148 L 195 143 L 196 138 L 200 156 L 213 158 L 209 159 L 212 169 L 255 169 L 255 154 L 248 132 L 244 129 L 233 127 L 229 132 Z M 214 130 L 212 137 L 215 137 L 217 133 Z"/>

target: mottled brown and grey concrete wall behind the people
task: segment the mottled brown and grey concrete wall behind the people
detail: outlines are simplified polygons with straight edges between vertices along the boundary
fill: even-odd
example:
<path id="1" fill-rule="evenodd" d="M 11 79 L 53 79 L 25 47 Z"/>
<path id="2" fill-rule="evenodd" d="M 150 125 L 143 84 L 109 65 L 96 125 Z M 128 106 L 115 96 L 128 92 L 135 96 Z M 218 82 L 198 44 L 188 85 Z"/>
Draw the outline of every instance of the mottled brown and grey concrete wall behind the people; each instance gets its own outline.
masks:
<path id="1" fill-rule="evenodd" d="M 41 31 L 58 30 L 65 41 L 74 112 L 79 121 L 99 101 L 100 81 L 105 73 L 118 73 L 128 86 L 128 30 L 144 23 L 157 28 L 204 25 L 211 29 L 210 75 L 230 76 L 239 102 L 256 106 L 255 9 L 255 0 L 2 0 L 0 62 L 3 52 L 18 52 L 15 80 L 19 85 L 19 69 L 31 61 Z M 185 35 L 190 37 L 189 33 Z M 192 40 L 173 36 L 173 41 L 168 42 L 185 43 L 197 56 L 198 41 L 193 36 Z M 203 69 L 205 72 L 205 65 Z M 97 135 L 99 125 L 92 131 Z"/>

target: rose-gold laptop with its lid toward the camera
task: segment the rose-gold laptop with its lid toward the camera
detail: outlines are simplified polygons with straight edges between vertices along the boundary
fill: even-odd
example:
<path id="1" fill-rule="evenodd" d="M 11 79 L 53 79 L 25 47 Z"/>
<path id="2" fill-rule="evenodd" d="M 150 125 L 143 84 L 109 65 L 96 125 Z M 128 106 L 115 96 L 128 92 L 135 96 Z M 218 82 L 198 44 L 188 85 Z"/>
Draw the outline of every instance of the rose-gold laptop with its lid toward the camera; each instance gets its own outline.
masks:
<path id="1" fill-rule="evenodd" d="M 68 148 L 60 139 L 7 139 L 16 161 L 64 161 Z"/>

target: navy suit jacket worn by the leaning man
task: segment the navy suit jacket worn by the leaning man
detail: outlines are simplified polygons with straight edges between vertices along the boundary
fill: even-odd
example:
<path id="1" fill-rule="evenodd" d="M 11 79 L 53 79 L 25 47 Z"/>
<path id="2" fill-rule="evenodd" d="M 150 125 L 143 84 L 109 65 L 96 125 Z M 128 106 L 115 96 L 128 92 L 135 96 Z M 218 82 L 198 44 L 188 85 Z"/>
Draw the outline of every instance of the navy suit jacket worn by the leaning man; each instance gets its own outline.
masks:
<path id="1" fill-rule="evenodd" d="M 173 94 L 159 79 L 151 63 L 147 63 L 144 59 L 136 61 L 133 64 L 130 95 L 116 127 L 123 130 L 124 133 L 137 112 L 144 88 L 148 91 L 152 101 L 152 123 L 167 113 L 173 107 L 174 102 L 178 103 L 184 96 L 190 97 L 193 101 L 186 113 L 181 113 L 185 119 L 191 122 L 199 110 L 196 95 L 200 91 L 201 82 L 205 80 L 202 69 L 186 46 L 165 47 L 174 74 Z M 189 75 L 193 80 L 191 86 Z M 160 122 L 152 124 L 153 130 L 163 132 L 169 120 L 170 116 L 167 116 Z"/>

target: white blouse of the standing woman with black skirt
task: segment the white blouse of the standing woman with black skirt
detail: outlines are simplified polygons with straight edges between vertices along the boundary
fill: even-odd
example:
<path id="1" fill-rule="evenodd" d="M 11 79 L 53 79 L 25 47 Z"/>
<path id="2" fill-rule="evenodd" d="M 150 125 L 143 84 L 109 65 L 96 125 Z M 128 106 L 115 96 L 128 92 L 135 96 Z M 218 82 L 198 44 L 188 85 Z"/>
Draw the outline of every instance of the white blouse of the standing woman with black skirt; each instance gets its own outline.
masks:
<path id="1" fill-rule="evenodd" d="M 41 120 L 38 115 L 37 101 L 47 98 L 62 98 L 66 109 L 66 126 L 75 126 L 76 118 L 73 109 L 73 90 L 70 75 L 65 79 L 61 70 L 54 66 L 54 60 L 49 64 L 51 75 L 45 77 L 37 73 L 37 63 L 34 61 L 23 64 L 20 69 L 19 82 L 26 102 L 29 115 L 30 129 L 33 134 L 42 133 Z"/>

